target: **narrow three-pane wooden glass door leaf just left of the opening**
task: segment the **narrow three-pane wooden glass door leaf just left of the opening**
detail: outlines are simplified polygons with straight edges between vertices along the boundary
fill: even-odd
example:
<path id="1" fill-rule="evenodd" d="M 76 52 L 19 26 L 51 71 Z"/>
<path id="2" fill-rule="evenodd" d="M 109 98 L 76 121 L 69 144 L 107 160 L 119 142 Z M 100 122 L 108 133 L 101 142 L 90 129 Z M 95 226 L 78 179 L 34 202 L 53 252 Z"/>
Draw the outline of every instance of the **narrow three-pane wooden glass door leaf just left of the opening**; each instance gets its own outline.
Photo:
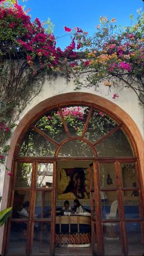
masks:
<path id="1" fill-rule="evenodd" d="M 36 166 L 32 254 L 54 255 L 56 163 L 37 163 Z"/>

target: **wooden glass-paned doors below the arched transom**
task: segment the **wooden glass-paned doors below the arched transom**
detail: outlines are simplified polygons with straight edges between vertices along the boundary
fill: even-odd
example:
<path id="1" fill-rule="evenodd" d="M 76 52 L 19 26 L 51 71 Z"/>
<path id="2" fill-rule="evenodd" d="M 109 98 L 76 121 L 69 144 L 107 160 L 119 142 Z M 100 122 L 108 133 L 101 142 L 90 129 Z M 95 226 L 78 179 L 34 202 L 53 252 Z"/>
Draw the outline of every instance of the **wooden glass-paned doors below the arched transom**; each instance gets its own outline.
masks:
<path id="1" fill-rule="evenodd" d="M 131 252 L 143 255 L 144 221 L 139 175 L 135 176 L 137 186 L 126 185 L 125 161 L 87 161 L 92 255 L 131 255 Z M 127 160 L 127 165 L 128 161 L 129 166 L 137 166 L 131 163 L 132 160 Z M 10 203 L 13 212 L 6 227 L 4 255 L 58 255 L 55 253 L 58 167 L 56 161 L 41 162 L 34 159 L 31 163 L 15 163 Z M 26 176 L 21 175 L 22 170 Z M 132 172 L 129 175 L 134 178 Z M 66 178 L 64 176 L 63 183 Z M 137 196 L 132 197 L 133 191 Z M 30 203 L 29 217 L 20 218 L 20 208 L 27 201 Z M 127 208 L 133 209 L 134 214 L 128 214 Z M 22 237 L 24 232 L 25 238 Z M 71 252 L 71 248 L 68 250 Z"/>

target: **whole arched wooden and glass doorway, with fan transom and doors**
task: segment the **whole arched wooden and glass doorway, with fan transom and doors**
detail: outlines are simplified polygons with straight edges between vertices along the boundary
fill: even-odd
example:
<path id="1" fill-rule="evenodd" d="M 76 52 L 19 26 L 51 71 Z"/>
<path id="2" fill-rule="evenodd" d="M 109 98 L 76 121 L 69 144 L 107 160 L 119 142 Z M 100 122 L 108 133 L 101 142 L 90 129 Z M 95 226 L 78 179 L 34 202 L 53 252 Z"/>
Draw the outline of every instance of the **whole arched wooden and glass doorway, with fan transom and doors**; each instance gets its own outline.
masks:
<path id="1" fill-rule="evenodd" d="M 31 120 L 21 134 L 15 150 L 13 167 L 11 202 L 14 210 L 8 226 L 8 235 L 12 239 L 8 253 L 15 254 L 12 246 L 13 230 L 26 224 L 28 239 L 22 241 L 23 246 L 19 249 L 22 251 L 26 249 L 28 255 L 40 252 L 54 254 L 56 201 L 59 197 L 56 191 L 57 162 L 59 161 L 75 162 L 76 166 L 73 164 L 69 166 L 70 169 L 79 169 L 78 163 L 87 161 L 87 166 L 83 164 L 81 167 L 85 170 L 85 175 L 88 169 L 91 175 L 90 183 L 94 181 L 88 191 L 90 210 L 92 210 L 93 251 L 98 255 L 109 255 L 109 252 L 110 255 L 116 255 L 115 250 L 117 254 L 130 254 L 131 250 L 134 250 L 134 247 L 131 247 L 132 241 L 141 234 L 143 217 L 134 142 L 129 141 L 121 120 L 117 117 L 113 118 L 109 111 L 103 111 L 103 108 L 97 108 L 95 104 L 85 104 L 82 101 L 77 104 L 74 102 L 55 104 L 54 108 L 45 109 L 38 117 Z M 65 164 L 62 167 L 67 171 Z M 49 180 L 45 180 L 43 176 Z M 66 194 L 63 192 L 61 194 Z M 19 216 L 16 217 L 16 213 L 18 207 L 26 201 L 30 201 L 29 218 L 20 219 Z M 115 215 L 111 209 L 113 202 L 116 202 Z M 46 207 L 49 207 L 47 216 L 45 216 Z M 132 215 L 129 213 L 131 210 Z M 37 251 L 34 241 L 37 224 L 42 230 L 38 247 L 41 251 Z M 131 241 L 129 238 L 132 233 L 134 237 Z M 42 247 L 43 236 L 48 238 L 47 249 Z M 142 241 L 142 237 L 139 236 L 140 254 L 143 250 Z M 19 255 L 22 254 L 20 250 L 17 251 Z"/>

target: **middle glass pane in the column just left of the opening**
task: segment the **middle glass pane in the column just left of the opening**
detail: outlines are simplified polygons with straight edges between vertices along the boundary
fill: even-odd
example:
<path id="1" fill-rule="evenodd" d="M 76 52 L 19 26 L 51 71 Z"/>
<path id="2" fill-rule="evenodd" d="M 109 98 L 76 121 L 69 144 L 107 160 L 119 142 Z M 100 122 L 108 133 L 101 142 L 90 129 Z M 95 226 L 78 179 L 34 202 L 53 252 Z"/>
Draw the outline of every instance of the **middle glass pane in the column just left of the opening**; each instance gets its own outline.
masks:
<path id="1" fill-rule="evenodd" d="M 37 192 L 35 199 L 35 218 L 51 218 L 51 192 Z"/>

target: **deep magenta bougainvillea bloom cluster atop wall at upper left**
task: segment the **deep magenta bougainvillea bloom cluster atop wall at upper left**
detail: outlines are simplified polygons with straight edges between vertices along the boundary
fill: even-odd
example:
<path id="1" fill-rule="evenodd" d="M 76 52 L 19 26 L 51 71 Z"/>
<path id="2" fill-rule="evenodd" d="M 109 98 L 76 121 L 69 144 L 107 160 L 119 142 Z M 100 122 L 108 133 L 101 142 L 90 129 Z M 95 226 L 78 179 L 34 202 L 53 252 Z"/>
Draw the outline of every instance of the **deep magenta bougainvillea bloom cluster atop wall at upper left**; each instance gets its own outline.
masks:
<path id="1" fill-rule="evenodd" d="M 74 38 L 65 51 L 56 48 L 54 35 L 45 32 L 38 18 L 32 22 L 31 17 L 17 3 L 12 8 L 0 5 L 0 20 L 4 30 L 10 31 L 7 38 L 0 35 L 0 40 L 9 40 L 13 49 L 24 54 L 27 64 L 34 70 L 34 75 L 37 75 L 38 64 L 42 69 L 54 70 L 59 68 L 63 58 L 77 56 L 74 52 Z M 82 31 L 78 27 L 76 29 L 77 33 Z M 70 32 L 71 29 L 65 26 L 65 31 Z"/>

